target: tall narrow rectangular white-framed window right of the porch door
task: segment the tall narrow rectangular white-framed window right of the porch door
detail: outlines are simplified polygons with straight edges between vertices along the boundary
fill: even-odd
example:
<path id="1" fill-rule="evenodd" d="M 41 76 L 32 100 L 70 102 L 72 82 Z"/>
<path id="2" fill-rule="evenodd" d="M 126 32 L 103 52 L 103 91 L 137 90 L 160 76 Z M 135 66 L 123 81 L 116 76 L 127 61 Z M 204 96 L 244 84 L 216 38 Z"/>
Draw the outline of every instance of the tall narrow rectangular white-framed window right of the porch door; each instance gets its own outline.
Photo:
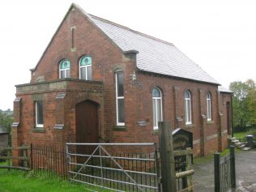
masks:
<path id="1" fill-rule="evenodd" d="M 117 102 L 117 126 L 125 126 L 124 113 L 124 77 L 123 73 L 116 73 L 116 102 Z"/>

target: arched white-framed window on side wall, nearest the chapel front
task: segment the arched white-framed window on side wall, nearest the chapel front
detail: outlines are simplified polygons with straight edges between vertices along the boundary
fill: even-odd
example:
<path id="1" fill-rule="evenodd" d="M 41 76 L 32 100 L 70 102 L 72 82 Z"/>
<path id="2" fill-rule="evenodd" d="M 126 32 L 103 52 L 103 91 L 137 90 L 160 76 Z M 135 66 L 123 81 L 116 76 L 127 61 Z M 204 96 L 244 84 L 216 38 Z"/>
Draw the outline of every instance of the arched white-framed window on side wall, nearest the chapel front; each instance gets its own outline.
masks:
<path id="1" fill-rule="evenodd" d="M 152 104 L 153 104 L 153 129 L 158 129 L 158 122 L 163 121 L 162 114 L 162 94 L 159 88 L 153 88 L 152 91 Z"/>

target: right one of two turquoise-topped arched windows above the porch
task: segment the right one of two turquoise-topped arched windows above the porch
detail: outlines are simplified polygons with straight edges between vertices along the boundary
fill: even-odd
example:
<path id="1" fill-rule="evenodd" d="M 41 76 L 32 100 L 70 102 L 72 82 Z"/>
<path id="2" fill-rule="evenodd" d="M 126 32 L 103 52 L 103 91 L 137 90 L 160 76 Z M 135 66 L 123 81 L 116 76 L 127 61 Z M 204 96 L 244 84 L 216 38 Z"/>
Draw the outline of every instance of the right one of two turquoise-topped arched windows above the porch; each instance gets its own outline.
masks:
<path id="1" fill-rule="evenodd" d="M 79 61 L 79 78 L 92 79 L 92 58 L 87 55 L 83 56 Z"/>

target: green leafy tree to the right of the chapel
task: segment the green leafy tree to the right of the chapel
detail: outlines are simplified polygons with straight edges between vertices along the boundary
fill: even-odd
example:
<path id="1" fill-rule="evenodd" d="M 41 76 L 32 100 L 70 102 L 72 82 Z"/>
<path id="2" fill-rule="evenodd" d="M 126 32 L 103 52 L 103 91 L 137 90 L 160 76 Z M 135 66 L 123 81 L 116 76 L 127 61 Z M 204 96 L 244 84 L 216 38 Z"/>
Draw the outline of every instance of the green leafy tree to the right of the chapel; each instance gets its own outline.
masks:
<path id="1" fill-rule="evenodd" d="M 234 126 L 245 128 L 256 124 L 256 83 L 254 80 L 230 83 L 229 89 L 233 92 Z"/>

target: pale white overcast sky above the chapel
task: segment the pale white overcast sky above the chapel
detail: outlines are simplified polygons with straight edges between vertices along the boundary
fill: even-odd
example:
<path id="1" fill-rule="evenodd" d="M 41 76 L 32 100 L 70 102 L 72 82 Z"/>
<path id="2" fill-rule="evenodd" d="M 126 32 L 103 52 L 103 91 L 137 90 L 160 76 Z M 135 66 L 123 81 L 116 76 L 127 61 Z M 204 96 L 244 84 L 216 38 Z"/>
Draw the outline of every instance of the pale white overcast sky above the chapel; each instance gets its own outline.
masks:
<path id="1" fill-rule="evenodd" d="M 256 80 L 255 0 L 8 0 L 0 4 L 0 109 L 13 109 L 15 84 L 29 83 L 72 2 L 173 43 L 224 87 Z"/>

